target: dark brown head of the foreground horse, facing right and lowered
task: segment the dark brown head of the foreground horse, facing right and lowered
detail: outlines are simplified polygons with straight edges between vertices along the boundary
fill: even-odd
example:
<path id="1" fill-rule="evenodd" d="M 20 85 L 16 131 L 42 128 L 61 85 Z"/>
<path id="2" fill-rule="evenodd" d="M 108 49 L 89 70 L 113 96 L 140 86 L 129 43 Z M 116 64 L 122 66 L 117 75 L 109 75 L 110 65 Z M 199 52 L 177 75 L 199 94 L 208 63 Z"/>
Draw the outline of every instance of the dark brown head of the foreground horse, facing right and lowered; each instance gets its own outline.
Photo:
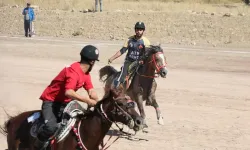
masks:
<path id="1" fill-rule="evenodd" d="M 107 90 L 106 90 L 107 92 Z M 109 89 L 109 94 L 97 106 L 106 121 L 110 123 L 120 122 L 134 131 L 143 128 L 143 118 L 135 110 L 136 103 L 125 95 L 122 86 Z"/>

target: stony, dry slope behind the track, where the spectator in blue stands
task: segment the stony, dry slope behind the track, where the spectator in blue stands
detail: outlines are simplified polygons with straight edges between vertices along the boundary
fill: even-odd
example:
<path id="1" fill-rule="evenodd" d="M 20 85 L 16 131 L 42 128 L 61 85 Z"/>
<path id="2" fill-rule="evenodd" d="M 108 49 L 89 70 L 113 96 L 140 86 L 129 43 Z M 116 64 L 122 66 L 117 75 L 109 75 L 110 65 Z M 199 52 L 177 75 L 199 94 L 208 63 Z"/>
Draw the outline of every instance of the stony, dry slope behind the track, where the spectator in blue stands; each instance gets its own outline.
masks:
<path id="1" fill-rule="evenodd" d="M 23 35 L 21 12 L 25 4 L 5 6 L 8 2 L 2 1 L 0 34 Z M 40 6 L 35 10 L 38 36 L 125 40 L 134 33 L 135 22 L 143 21 L 150 41 L 250 47 L 250 7 L 243 3 L 208 5 L 105 0 L 102 13 L 83 13 L 85 9 L 93 9 L 94 0 L 64 2 L 33 3 Z"/>

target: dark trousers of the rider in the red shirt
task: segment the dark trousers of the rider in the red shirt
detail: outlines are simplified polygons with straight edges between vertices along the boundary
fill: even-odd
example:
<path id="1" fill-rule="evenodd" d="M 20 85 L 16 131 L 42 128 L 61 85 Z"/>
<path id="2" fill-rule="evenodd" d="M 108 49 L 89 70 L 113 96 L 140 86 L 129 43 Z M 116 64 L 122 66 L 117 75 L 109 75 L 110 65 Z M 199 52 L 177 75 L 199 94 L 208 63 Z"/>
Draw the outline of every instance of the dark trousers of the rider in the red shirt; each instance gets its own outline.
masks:
<path id="1" fill-rule="evenodd" d="M 37 137 L 40 141 L 47 141 L 53 136 L 58 129 L 57 123 L 61 121 L 62 113 L 66 104 L 43 101 L 42 116 L 45 121 L 45 126 L 38 133 Z"/>

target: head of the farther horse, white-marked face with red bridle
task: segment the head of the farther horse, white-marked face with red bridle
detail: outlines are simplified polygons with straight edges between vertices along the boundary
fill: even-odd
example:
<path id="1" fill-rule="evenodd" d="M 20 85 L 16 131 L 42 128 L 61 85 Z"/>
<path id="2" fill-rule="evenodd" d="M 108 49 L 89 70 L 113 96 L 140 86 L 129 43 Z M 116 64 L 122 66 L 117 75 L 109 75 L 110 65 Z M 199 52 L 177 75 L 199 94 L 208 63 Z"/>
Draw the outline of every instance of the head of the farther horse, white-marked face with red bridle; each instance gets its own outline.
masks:
<path id="1" fill-rule="evenodd" d="M 160 74 L 161 77 L 166 78 L 168 72 L 166 57 L 160 45 L 150 45 L 150 47 L 146 47 L 144 59 L 145 63 L 150 63 L 156 74 Z"/>

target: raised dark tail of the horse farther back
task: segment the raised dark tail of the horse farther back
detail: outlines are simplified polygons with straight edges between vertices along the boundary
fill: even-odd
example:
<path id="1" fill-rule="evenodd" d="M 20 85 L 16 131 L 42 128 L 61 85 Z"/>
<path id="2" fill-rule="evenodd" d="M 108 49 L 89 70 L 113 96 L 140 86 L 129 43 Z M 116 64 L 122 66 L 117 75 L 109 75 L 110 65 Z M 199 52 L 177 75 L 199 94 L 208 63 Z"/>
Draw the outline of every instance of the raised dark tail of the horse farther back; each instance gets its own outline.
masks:
<path id="1" fill-rule="evenodd" d="M 118 71 L 112 66 L 105 66 L 99 70 L 99 79 L 106 82 L 111 76 L 115 75 Z"/>

